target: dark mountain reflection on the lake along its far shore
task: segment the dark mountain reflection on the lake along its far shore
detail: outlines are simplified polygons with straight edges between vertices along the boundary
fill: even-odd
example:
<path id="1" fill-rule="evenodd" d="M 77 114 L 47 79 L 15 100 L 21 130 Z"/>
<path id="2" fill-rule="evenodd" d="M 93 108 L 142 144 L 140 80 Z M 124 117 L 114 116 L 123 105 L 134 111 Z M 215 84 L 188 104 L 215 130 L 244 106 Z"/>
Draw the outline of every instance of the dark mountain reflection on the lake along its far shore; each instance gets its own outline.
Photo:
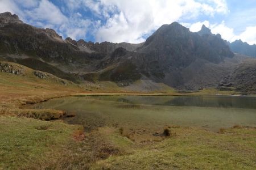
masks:
<path id="1" fill-rule="evenodd" d="M 256 109 L 256 97 L 248 96 L 100 96 L 96 98 L 130 104 Z"/>

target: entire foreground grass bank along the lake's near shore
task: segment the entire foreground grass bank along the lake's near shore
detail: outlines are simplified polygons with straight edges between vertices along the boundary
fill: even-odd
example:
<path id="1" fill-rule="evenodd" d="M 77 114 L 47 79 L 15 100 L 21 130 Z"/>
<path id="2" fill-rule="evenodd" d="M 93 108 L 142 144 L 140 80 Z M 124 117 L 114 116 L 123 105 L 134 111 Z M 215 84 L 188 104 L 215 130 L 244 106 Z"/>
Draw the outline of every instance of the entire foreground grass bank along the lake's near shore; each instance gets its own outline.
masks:
<path id="1" fill-rule="evenodd" d="M 170 126 L 171 137 L 138 143 L 118 128 L 73 138 L 80 126 L 0 117 L 0 169 L 255 169 L 256 129 L 224 133 Z"/>

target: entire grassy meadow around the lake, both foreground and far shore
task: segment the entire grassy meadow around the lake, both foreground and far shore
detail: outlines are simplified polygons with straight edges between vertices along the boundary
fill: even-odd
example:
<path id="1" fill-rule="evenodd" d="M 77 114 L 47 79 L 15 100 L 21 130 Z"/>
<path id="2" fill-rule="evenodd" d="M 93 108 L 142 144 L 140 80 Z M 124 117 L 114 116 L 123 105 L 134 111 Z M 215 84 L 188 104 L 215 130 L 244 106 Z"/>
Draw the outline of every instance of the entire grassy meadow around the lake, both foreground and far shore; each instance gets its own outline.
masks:
<path id="1" fill-rule="evenodd" d="M 170 135 L 161 135 L 156 141 L 142 141 L 130 138 L 115 126 L 85 132 L 81 125 L 65 124 L 61 118 L 68 113 L 63 111 L 24 109 L 22 105 L 61 96 L 109 95 L 108 92 L 148 94 L 114 91 L 112 83 L 105 83 L 105 90 L 100 86 L 77 85 L 51 74 L 46 79 L 36 78 L 34 70 L 22 67 L 23 75 L 0 72 L 0 169 L 256 168 L 255 128 L 234 126 L 214 132 L 163 125 L 159 133 L 166 128 Z M 203 90 L 185 95 L 200 93 L 225 92 Z M 170 94 L 180 95 L 171 91 Z"/>

